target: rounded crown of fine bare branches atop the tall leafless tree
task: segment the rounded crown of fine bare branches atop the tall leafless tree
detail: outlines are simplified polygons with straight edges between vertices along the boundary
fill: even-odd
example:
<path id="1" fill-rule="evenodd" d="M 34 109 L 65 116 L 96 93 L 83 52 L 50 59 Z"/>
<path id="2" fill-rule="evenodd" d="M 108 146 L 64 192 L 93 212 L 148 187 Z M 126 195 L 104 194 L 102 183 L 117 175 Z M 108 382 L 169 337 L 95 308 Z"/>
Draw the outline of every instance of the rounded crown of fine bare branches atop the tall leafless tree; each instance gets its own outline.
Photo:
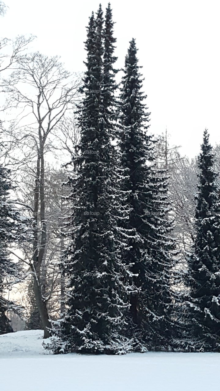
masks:
<path id="1" fill-rule="evenodd" d="M 76 104 L 80 83 L 80 76 L 65 70 L 58 56 L 48 57 L 39 52 L 23 56 L 5 81 L 7 105 L 10 102 L 11 107 L 22 109 L 21 123 L 31 115 L 29 127 L 40 129 L 46 138 L 65 111 Z"/>

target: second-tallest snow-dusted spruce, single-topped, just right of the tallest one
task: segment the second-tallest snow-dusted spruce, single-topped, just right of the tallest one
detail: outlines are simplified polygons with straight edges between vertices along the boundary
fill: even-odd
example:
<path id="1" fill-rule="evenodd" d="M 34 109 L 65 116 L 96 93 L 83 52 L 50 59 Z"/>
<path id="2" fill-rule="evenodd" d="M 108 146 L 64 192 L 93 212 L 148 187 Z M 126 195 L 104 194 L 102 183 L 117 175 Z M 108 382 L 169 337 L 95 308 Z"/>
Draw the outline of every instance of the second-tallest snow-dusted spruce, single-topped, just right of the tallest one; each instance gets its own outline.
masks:
<path id="1" fill-rule="evenodd" d="M 135 39 L 125 59 L 121 87 L 120 147 L 122 165 L 128 172 L 123 189 L 128 190 L 130 207 L 126 224 L 130 231 L 126 264 L 133 263 L 133 293 L 130 298 L 131 334 L 137 349 L 168 349 L 174 328 L 171 274 L 175 266 L 175 246 L 169 234 L 172 222 L 167 213 L 168 178 L 156 170 L 154 140 L 148 135 L 147 112 L 139 73 Z M 141 344 L 140 344 L 141 342 Z"/>

